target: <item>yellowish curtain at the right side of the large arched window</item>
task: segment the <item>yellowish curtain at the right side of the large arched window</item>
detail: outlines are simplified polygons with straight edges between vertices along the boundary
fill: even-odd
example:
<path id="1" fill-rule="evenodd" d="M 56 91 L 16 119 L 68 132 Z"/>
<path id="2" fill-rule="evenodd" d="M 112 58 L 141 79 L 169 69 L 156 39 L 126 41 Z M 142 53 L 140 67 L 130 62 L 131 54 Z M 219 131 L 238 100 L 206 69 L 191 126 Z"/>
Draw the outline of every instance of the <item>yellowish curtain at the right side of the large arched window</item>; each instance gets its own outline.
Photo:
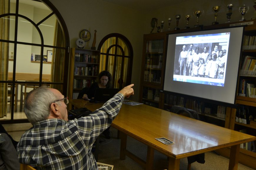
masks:
<path id="1" fill-rule="evenodd" d="M 55 32 L 54 32 L 54 46 L 65 47 L 63 33 L 59 22 L 56 20 Z M 51 82 L 63 82 L 64 78 L 64 60 L 65 50 L 54 48 L 52 51 L 51 61 Z M 61 84 L 52 84 L 51 88 L 58 89 L 63 93 L 63 87 Z"/>

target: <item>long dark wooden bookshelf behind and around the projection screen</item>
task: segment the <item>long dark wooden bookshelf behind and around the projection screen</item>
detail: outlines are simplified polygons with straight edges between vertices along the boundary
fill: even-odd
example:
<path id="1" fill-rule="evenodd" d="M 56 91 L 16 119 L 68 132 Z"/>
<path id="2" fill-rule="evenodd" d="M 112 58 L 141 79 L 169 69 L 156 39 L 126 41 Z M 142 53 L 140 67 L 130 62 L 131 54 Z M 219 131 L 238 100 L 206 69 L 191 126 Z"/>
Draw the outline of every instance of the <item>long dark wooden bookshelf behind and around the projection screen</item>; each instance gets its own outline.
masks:
<path id="1" fill-rule="evenodd" d="M 255 44 L 256 22 L 255 20 L 247 20 L 247 21 L 239 21 L 234 23 L 218 24 L 215 26 L 204 26 L 203 28 L 204 30 L 215 29 L 215 28 L 216 29 L 225 28 L 225 27 L 229 27 L 230 24 L 250 22 L 250 21 L 252 21 L 251 23 L 253 24 L 247 25 L 244 31 L 244 39 L 243 39 L 244 42 L 242 47 L 243 50 L 241 54 L 239 76 L 238 76 L 238 82 L 237 82 L 237 96 L 235 100 L 235 103 L 239 107 L 247 109 L 247 111 L 245 111 L 245 114 L 240 113 L 240 119 L 242 117 L 246 119 L 246 116 L 248 115 L 250 116 L 250 114 L 253 114 L 254 118 L 256 116 L 255 115 L 256 114 L 256 98 L 255 98 L 256 92 L 254 92 L 256 87 L 256 66 L 254 67 L 256 63 L 256 61 L 254 61 L 256 59 L 256 44 Z M 173 105 L 194 109 L 199 112 L 200 118 L 202 118 L 202 121 L 206 121 L 206 122 L 213 123 L 225 128 L 229 128 L 229 129 L 240 131 L 240 132 L 245 132 L 250 135 L 256 136 L 256 130 L 255 130 L 256 121 L 251 120 L 251 123 L 250 123 L 250 121 L 248 121 L 248 118 L 247 118 L 247 124 L 245 124 L 245 122 L 242 123 L 242 121 L 239 122 L 239 120 L 236 121 L 236 119 L 239 118 L 239 115 L 238 115 L 239 109 L 230 108 L 230 107 L 218 107 L 217 104 L 215 105 L 212 103 L 206 103 L 205 101 L 197 101 L 195 100 L 195 98 L 185 98 L 182 96 L 176 96 L 176 97 L 170 96 L 170 94 L 162 93 L 160 91 L 163 85 L 163 76 L 164 76 L 163 67 L 165 67 L 165 47 L 163 47 L 163 52 L 161 50 L 160 52 L 159 51 L 149 52 L 148 49 L 150 48 L 148 46 L 152 45 L 152 42 L 150 41 L 163 40 L 163 44 L 165 46 L 167 34 L 195 31 L 197 29 L 198 28 L 190 28 L 186 30 L 182 29 L 182 30 L 168 31 L 164 33 L 153 33 L 153 34 L 144 35 L 142 73 L 141 73 L 141 84 L 140 84 L 140 102 L 148 105 L 154 105 L 154 107 L 158 107 L 164 110 L 170 110 L 170 108 Z M 246 38 L 248 40 L 246 40 Z M 158 64 L 152 64 L 155 61 L 158 61 L 153 59 L 154 55 L 163 56 L 162 68 L 156 68 Z M 150 76 L 152 76 L 152 74 L 153 74 L 153 77 L 154 75 L 156 75 L 159 78 L 148 79 Z M 247 85 L 248 83 L 254 85 L 254 90 L 252 90 L 253 85 L 249 86 Z M 244 84 L 244 87 L 242 87 L 242 84 Z M 247 87 L 248 87 L 248 90 L 250 87 L 251 95 L 249 95 L 249 91 L 247 90 Z M 242 88 L 244 88 L 243 89 L 244 91 L 241 93 Z M 158 95 L 159 95 L 159 98 L 157 97 L 157 100 L 154 100 L 154 96 L 158 96 Z M 221 113 L 222 115 L 218 113 L 218 110 L 219 111 L 222 110 L 222 113 Z M 223 110 L 225 110 L 224 114 L 223 114 Z M 256 146 L 256 141 L 252 143 L 254 144 L 254 146 Z M 252 169 L 256 169 L 256 164 L 252 164 L 252 162 L 256 161 L 256 152 L 255 150 L 254 151 L 250 150 L 250 147 L 248 147 L 252 143 L 241 145 L 239 163 L 244 164 Z M 230 149 L 219 149 L 217 150 L 217 152 L 225 157 L 230 156 Z"/>

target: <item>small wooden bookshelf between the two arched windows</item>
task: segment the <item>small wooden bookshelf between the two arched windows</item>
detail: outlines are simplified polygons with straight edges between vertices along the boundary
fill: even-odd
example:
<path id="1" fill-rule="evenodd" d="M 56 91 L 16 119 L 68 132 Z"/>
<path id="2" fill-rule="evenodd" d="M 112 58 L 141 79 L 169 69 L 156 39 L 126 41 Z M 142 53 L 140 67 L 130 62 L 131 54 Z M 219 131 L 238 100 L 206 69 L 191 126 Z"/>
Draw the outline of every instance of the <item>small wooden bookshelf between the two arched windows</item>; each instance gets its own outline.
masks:
<path id="1" fill-rule="evenodd" d="M 99 74 L 100 51 L 71 48 L 69 62 L 69 98 L 96 81 Z"/>

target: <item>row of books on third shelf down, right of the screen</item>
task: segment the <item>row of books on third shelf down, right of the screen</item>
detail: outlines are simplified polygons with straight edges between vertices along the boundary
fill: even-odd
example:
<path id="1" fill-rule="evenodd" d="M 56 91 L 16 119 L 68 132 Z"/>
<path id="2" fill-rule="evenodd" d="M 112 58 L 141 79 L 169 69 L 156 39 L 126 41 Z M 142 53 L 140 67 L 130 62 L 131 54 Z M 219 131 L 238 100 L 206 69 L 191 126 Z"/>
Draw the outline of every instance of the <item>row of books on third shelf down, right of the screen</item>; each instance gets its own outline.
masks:
<path id="1" fill-rule="evenodd" d="M 238 96 L 256 98 L 255 84 L 251 80 L 241 79 Z"/>

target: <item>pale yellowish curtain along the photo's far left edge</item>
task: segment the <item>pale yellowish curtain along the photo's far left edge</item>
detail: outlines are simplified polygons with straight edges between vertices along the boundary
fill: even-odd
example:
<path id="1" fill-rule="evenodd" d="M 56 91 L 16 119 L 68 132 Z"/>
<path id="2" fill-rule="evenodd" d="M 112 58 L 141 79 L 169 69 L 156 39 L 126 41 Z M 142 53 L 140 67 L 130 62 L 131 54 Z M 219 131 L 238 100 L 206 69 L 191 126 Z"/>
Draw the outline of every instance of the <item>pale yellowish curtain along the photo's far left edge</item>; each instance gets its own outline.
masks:
<path id="1" fill-rule="evenodd" d="M 0 15 L 10 13 L 10 0 L 0 0 Z M 9 17 L 5 17 L 9 18 Z M 9 40 L 9 19 L 0 18 L 0 39 Z M 8 79 L 9 45 L 0 42 L 0 79 Z M 0 83 L 0 118 L 7 113 L 8 84 Z"/>

